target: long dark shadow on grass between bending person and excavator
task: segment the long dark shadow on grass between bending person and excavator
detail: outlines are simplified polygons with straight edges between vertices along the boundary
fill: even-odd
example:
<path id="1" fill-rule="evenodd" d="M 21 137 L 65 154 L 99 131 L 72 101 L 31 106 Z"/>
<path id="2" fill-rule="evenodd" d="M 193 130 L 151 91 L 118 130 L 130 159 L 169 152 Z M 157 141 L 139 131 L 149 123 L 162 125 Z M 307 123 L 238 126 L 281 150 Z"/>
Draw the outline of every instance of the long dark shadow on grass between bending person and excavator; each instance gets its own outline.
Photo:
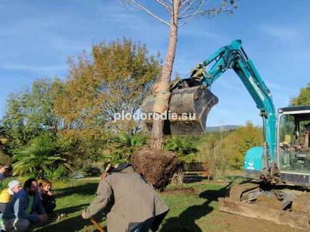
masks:
<path id="1" fill-rule="evenodd" d="M 161 232 L 202 232 L 195 221 L 214 210 L 209 206 L 211 201 L 218 201 L 219 197 L 228 196 L 229 188 L 234 180 L 219 190 L 206 190 L 199 194 L 200 198 L 206 199 L 203 204 L 190 206 L 178 217 L 168 218 L 161 228 Z"/>

